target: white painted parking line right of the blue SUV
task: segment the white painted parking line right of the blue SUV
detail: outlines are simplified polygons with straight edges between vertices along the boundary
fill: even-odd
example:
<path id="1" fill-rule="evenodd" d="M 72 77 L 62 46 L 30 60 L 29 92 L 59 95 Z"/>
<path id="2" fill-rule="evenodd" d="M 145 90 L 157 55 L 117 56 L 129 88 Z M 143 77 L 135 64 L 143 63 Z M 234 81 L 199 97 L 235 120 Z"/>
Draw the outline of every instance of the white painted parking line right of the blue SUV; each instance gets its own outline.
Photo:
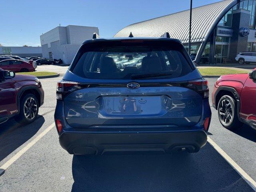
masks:
<path id="1" fill-rule="evenodd" d="M 238 174 L 256 191 L 256 182 L 238 165 L 228 154 L 226 154 L 209 136 L 207 138 L 210 145 L 238 172 Z"/>

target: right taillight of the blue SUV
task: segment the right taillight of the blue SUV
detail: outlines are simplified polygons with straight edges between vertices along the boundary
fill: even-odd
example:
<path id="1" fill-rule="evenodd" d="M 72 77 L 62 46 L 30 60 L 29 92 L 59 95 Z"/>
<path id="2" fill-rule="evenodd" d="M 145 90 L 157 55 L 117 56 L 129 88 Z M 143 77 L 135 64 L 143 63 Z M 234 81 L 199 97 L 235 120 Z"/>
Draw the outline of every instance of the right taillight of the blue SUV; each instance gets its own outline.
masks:
<path id="1" fill-rule="evenodd" d="M 192 80 L 183 84 L 183 86 L 200 92 L 204 98 L 209 97 L 208 81 L 205 79 Z"/>

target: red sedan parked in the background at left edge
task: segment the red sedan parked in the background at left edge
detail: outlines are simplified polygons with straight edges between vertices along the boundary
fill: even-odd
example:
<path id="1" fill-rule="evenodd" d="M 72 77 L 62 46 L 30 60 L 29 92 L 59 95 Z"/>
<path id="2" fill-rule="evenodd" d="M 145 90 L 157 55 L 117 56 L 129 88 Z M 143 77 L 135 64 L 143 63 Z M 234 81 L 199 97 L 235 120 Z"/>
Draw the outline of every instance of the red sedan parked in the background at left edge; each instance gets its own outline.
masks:
<path id="1" fill-rule="evenodd" d="M 35 71 L 33 64 L 17 59 L 6 59 L 0 61 L 0 68 L 14 72 L 32 72 Z"/>

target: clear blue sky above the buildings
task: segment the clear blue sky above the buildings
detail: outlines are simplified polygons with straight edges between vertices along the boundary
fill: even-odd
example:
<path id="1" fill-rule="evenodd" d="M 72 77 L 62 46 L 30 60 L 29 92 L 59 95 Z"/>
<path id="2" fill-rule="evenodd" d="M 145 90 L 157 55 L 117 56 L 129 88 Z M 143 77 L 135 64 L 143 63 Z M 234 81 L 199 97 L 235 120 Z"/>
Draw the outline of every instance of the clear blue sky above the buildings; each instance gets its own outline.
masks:
<path id="1" fill-rule="evenodd" d="M 219 0 L 193 0 L 198 7 Z M 40 45 L 40 35 L 58 26 L 96 26 L 112 37 L 125 26 L 189 9 L 190 0 L 1 0 L 0 44 Z"/>

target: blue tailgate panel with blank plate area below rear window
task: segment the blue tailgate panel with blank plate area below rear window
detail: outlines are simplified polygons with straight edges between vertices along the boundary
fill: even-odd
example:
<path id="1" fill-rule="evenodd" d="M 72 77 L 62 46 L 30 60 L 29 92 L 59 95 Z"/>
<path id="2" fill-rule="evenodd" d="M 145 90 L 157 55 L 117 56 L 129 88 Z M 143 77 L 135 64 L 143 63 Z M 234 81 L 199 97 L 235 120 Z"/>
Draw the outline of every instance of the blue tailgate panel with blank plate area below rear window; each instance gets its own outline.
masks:
<path id="1" fill-rule="evenodd" d="M 72 127 L 168 125 L 194 126 L 202 113 L 202 96 L 184 87 L 84 88 L 64 99 Z"/>

